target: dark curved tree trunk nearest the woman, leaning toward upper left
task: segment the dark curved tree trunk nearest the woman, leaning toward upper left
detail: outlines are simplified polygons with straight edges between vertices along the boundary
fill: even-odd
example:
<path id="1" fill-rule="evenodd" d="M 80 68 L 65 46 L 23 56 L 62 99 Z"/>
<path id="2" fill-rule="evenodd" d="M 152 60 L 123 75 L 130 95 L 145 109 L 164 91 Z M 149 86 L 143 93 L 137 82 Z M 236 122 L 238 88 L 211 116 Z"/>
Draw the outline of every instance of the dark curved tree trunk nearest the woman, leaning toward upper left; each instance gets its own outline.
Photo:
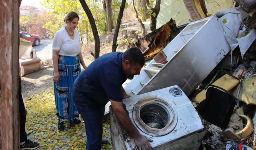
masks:
<path id="1" fill-rule="evenodd" d="M 89 19 L 92 31 L 93 31 L 93 37 L 94 37 L 94 42 L 95 42 L 95 53 L 92 54 L 93 57 L 96 59 L 99 57 L 99 51 L 100 51 L 100 40 L 99 40 L 99 34 L 98 34 L 98 30 L 97 30 L 97 26 L 95 24 L 93 15 L 88 7 L 88 5 L 86 4 L 85 0 L 79 0 L 83 9 L 85 10 L 85 13 Z"/>

